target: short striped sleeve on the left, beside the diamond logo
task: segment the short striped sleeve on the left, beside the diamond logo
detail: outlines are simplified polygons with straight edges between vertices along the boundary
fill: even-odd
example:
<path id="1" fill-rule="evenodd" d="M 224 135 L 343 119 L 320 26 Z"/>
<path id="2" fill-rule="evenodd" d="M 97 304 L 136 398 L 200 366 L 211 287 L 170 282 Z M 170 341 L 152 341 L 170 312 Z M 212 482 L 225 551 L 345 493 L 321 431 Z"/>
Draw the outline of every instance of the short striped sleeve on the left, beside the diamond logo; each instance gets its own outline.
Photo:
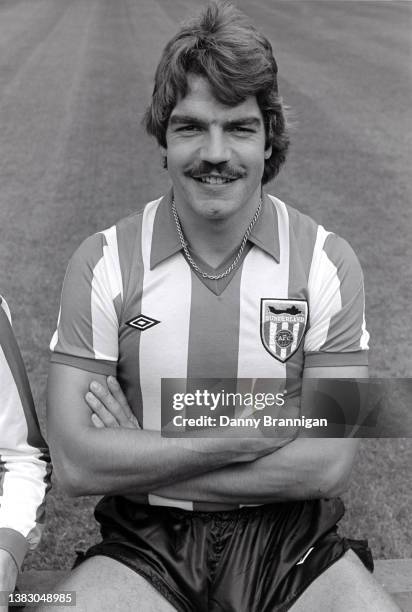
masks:
<path id="1" fill-rule="evenodd" d="M 51 361 L 116 374 L 119 278 L 116 228 L 95 234 L 75 252 L 67 268 Z"/>

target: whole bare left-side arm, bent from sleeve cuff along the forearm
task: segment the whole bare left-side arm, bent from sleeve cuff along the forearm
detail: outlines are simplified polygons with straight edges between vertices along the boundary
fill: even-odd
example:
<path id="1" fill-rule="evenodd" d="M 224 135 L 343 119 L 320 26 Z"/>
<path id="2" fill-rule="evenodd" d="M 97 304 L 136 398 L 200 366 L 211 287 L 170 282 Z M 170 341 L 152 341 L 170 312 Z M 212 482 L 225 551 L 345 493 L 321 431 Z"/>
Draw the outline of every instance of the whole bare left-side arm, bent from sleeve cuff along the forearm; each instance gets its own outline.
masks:
<path id="1" fill-rule="evenodd" d="M 253 461 L 286 440 L 167 439 L 137 428 L 98 428 L 85 395 L 102 375 L 52 364 L 49 442 L 55 473 L 69 494 L 148 493 L 221 467 Z"/>

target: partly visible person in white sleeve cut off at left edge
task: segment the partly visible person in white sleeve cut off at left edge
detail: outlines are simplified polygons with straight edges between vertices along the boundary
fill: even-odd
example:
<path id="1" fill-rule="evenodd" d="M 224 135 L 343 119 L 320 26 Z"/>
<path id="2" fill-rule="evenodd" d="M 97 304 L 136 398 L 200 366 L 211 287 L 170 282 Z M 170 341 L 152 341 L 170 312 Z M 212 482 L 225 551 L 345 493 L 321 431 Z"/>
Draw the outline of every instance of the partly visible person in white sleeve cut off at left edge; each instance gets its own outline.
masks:
<path id="1" fill-rule="evenodd" d="M 0 591 L 13 592 L 27 550 L 40 540 L 49 461 L 10 311 L 0 297 Z"/>

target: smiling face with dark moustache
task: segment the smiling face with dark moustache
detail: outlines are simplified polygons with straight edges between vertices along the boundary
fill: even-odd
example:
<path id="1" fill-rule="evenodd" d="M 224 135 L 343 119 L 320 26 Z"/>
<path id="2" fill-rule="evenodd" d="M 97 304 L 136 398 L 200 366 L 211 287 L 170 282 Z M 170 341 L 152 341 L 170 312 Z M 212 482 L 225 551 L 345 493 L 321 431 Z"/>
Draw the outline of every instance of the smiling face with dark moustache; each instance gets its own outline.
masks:
<path id="1" fill-rule="evenodd" d="M 188 93 L 178 100 L 166 131 L 167 168 L 183 213 L 205 219 L 255 211 L 261 192 L 265 129 L 255 96 L 237 106 L 214 97 L 209 82 L 189 75 Z"/>

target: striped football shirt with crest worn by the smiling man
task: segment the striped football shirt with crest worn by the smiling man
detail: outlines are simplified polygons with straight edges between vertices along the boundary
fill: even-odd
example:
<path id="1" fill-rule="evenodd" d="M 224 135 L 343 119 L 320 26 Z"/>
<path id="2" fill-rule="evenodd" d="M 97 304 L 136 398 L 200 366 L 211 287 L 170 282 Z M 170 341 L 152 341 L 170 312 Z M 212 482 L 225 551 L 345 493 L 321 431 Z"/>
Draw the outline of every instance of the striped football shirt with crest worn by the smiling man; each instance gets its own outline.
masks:
<path id="1" fill-rule="evenodd" d="M 171 198 L 91 236 L 74 254 L 53 362 L 116 375 L 150 430 L 161 428 L 162 379 L 235 387 L 271 379 L 299 398 L 304 367 L 367 364 L 362 272 L 347 242 L 265 195 L 238 268 L 203 279 L 185 259 Z"/>

